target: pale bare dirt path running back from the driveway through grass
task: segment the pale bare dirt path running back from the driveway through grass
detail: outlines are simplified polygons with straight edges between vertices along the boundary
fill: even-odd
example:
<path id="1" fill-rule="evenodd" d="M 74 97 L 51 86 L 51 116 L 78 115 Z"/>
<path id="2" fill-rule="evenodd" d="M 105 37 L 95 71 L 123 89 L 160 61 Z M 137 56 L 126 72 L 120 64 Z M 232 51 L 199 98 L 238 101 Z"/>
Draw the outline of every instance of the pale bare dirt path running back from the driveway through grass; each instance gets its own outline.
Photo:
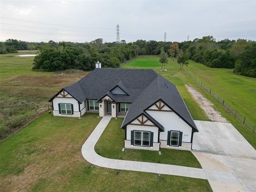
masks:
<path id="1" fill-rule="evenodd" d="M 198 105 L 204 110 L 206 116 L 214 122 L 229 123 L 225 117 L 222 117 L 219 111 L 213 108 L 213 103 L 206 99 L 201 93 L 192 86 L 186 85 L 188 92 L 196 100 Z"/>

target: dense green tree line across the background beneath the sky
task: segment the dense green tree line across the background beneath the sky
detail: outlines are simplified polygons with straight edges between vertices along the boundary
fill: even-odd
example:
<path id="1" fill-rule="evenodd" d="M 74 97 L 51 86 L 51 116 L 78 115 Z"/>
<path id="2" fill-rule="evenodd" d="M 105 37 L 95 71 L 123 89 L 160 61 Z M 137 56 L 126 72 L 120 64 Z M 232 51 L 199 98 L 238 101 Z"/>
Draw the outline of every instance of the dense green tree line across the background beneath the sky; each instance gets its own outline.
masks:
<path id="1" fill-rule="evenodd" d="M 39 49 L 34 60 L 35 70 L 92 70 L 96 61 L 100 61 L 102 67 L 116 68 L 138 55 L 164 54 L 164 57 L 177 58 L 182 65 L 187 65 L 187 60 L 191 59 L 208 67 L 234 69 L 236 74 L 256 77 L 256 42 L 246 39 L 216 41 L 213 36 L 205 36 L 185 42 L 140 39 L 132 43 L 124 40 L 121 43 L 103 43 L 101 38 L 86 43 L 30 43 L 7 39 L 0 45 L 0 53 Z"/>

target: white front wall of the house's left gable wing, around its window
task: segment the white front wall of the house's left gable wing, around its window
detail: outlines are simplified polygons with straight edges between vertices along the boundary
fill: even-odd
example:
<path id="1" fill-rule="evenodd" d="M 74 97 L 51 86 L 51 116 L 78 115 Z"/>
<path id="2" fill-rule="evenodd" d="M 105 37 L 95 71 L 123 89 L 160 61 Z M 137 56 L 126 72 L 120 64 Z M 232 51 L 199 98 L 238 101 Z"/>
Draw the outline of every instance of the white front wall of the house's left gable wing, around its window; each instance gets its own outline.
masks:
<path id="1" fill-rule="evenodd" d="M 63 97 L 65 95 L 65 97 Z M 73 110 L 74 114 L 73 115 L 62 115 L 59 114 L 59 103 L 70 103 L 73 104 Z M 78 106 L 78 101 L 74 99 L 71 95 L 69 95 L 66 91 L 62 91 L 60 94 L 57 95 L 52 100 L 53 104 L 53 115 L 54 116 L 61 116 L 61 117 L 80 117 L 80 111 L 79 111 L 79 106 Z M 82 108 L 81 108 L 82 109 Z"/>

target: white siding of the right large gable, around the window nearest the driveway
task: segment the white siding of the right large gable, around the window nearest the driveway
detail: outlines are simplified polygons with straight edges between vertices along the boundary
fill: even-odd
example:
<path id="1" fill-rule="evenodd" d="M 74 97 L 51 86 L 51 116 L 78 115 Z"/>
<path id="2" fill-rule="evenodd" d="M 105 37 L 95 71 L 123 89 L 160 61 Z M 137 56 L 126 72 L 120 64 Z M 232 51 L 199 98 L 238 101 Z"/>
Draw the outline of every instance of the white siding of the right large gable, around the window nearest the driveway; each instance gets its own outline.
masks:
<path id="1" fill-rule="evenodd" d="M 149 109 L 157 109 L 155 106 L 150 107 Z M 158 123 L 163 125 L 164 132 L 160 132 L 159 140 L 167 140 L 168 131 L 181 131 L 182 142 L 191 142 L 192 128 L 183 121 L 177 114 L 171 111 L 163 111 L 163 110 L 171 110 L 169 107 L 163 107 L 162 111 L 156 110 L 147 110 L 146 112 L 156 119 Z"/>

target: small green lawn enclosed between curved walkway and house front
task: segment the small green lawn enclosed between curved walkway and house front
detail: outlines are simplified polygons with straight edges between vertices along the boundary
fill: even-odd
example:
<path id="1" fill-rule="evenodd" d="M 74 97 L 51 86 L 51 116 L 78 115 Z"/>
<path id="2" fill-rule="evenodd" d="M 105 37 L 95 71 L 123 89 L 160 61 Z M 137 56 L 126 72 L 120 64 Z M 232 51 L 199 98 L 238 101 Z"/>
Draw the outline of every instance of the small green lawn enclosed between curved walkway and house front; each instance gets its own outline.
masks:
<path id="1" fill-rule="evenodd" d="M 112 118 L 95 146 L 95 151 L 107 158 L 125 159 L 131 161 L 164 163 L 202 168 L 196 157 L 190 152 L 177 149 L 161 149 L 158 151 L 121 149 L 124 147 L 125 130 L 121 129 L 123 118 Z"/>

